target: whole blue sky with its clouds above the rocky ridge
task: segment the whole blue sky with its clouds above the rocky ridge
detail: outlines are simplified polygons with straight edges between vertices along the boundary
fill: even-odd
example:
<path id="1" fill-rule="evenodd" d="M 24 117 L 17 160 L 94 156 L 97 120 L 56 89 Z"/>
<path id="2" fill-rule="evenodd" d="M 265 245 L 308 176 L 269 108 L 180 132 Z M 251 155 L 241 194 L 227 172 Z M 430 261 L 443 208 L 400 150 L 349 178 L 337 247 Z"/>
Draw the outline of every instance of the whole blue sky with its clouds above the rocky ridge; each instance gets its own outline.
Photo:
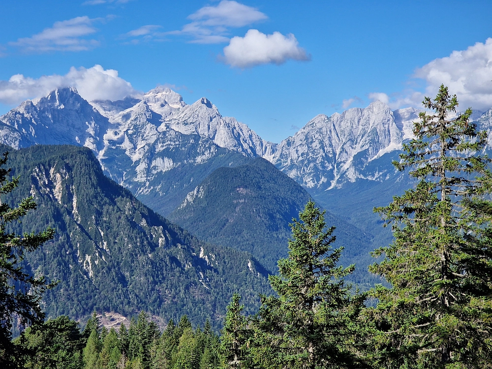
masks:
<path id="1" fill-rule="evenodd" d="M 1 7 L 0 113 L 55 85 L 79 84 L 86 98 L 169 85 L 186 103 L 206 96 L 222 115 L 279 142 L 317 114 L 375 98 L 418 106 L 440 83 L 463 104 L 492 106 L 492 1 L 3 0 Z"/>

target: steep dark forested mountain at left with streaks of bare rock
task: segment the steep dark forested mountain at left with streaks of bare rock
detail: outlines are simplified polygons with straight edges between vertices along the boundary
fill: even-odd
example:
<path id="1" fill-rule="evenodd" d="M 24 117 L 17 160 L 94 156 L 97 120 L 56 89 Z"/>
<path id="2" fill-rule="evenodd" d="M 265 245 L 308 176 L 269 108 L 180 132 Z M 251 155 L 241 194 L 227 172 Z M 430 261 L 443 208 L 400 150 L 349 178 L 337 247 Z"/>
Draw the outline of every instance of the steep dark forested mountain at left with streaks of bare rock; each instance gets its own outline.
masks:
<path id="1" fill-rule="evenodd" d="M 10 229 L 52 226 L 58 235 L 25 264 L 60 280 L 44 296 L 48 316 L 144 310 L 165 320 L 187 314 L 193 324 L 210 318 L 218 329 L 233 291 L 245 296 L 249 311 L 259 305 L 257 293 L 268 291 L 251 255 L 201 243 L 155 214 L 105 177 L 87 148 L 33 146 L 13 151 L 9 165 L 20 178 L 7 202 L 33 194 L 39 203 L 35 215 Z"/>

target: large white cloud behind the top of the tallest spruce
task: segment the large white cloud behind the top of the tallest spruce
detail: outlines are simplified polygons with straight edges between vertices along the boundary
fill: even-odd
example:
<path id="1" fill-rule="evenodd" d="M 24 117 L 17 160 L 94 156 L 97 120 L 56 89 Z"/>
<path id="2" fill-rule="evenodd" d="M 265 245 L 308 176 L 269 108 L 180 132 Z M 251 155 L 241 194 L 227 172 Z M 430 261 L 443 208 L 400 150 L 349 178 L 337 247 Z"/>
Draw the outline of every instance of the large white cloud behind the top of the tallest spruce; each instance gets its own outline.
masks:
<path id="1" fill-rule="evenodd" d="M 424 96 L 434 97 L 441 84 L 458 95 L 460 109 L 471 106 L 484 110 L 492 107 L 492 38 L 477 42 L 466 50 L 453 51 L 448 57 L 434 59 L 417 68 L 413 79 L 425 82 L 424 92 L 405 90 L 388 96 L 372 92 L 369 98 L 379 99 L 396 109 L 402 106 L 421 107 Z"/>

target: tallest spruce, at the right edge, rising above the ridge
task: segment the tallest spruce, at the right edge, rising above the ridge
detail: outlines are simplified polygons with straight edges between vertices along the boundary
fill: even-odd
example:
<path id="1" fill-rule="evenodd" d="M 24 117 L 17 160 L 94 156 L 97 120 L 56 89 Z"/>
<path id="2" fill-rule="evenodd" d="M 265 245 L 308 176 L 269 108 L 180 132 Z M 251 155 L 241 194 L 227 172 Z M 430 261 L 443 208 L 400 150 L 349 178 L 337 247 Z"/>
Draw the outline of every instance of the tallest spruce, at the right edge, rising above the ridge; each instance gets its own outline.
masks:
<path id="1" fill-rule="evenodd" d="M 481 154 L 487 134 L 456 118 L 458 100 L 441 86 L 426 97 L 414 123 L 415 139 L 403 145 L 400 171 L 419 182 L 375 209 L 391 224 L 394 242 L 374 251 L 384 255 L 370 267 L 391 283 L 377 286 L 379 299 L 366 311 L 375 323 L 384 368 L 488 368 L 492 340 L 492 175 Z"/>

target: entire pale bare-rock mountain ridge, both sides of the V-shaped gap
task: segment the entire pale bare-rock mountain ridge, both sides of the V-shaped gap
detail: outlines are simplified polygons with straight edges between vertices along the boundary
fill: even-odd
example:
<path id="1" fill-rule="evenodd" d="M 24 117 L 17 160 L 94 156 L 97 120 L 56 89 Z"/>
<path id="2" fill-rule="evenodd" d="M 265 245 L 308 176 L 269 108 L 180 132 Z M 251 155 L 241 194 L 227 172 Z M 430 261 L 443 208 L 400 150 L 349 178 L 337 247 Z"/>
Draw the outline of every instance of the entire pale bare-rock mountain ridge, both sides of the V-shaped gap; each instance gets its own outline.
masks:
<path id="1" fill-rule="evenodd" d="M 331 117 L 320 114 L 275 144 L 235 118 L 223 117 L 206 97 L 187 105 L 179 93 L 157 87 L 123 100 L 88 102 L 74 88 L 65 88 L 27 100 L 1 116 L 0 142 L 14 148 L 89 147 L 105 173 L 137 195 L 164 196 L 176 187 L 186 189 L 185 196 L 217 165 L 241 162 L 237 156 L 228 162 L 217 159 L 226 152 L 263 157 L 316 192 L 358 179 L 391 177 L 394 169 L 381 157 L 399 151 L 404 140 L 413 138 L 413 122 L 420 111 L 412 107 L 392 111 L 374 101 Z M 492 136 L 492 110 L 475 116 Z M 176 174 L 183 170 L 191 173 L 186 184 L 184 176 Z"/>

